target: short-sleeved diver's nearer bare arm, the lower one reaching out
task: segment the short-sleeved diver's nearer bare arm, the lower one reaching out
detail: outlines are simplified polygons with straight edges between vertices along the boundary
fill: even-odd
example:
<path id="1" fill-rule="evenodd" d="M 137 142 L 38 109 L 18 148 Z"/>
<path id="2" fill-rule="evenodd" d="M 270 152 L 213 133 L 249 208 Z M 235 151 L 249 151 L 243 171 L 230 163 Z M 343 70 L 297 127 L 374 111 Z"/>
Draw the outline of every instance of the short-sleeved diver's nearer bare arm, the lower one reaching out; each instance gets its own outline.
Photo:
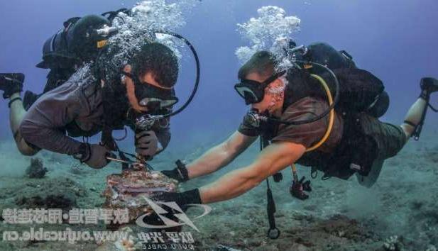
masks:
<path id="1" fill-rule="evenodd" d="M 229 172 L 216 182 L 200 188 L 202 203 L 233 199 L 296 162 L 304 152 L 303 145 L 275 142 L 266 147 L 253 164 Z"/>

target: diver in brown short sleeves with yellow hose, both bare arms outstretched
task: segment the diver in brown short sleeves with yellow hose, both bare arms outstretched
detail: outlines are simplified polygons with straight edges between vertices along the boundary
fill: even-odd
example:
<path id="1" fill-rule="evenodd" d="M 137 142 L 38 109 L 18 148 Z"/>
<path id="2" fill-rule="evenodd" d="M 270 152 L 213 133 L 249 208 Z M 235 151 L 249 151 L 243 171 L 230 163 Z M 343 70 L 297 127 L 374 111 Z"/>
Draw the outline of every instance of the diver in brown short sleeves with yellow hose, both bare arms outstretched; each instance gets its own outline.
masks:
<path id="1" fill-rule="evenodd" d="M 372 186 L 383 161 L 395 156 L 422 125 L 429 97 L 438 91 L 436 79 L 422 79 L 420 97 L 407 112 L 405 122 L 400 126 L 383 123 L 376 118 L 388 108 L 383 83 L 358 69 L 346 52 L 324 43 L 307 48 L 292 46 L 287 52 L 294 54 L 290 56 L 296 63 L 286 70 L 276 68 L 278 60 L 271 52 L 256 52 L 239 69 L 241 82 L 234 87 L 251 105 L 239 129 L 187 166 L 178 161 L 175 169 L 163 174 L 180 182 L 211 174 L 231 163 L 261 136 L 262 150 L 256 160 L 199 189 L 156 192 L 153 199 L 175 201 L 183 208 L 226 201 L 264 179 L 268 182 L 268 177 L 278 181 L 279 172 L 293 163 L 310 166 L 314 172 L 320 170 L 325 178 L 348 179 L 356 173 L 358 182 Z M 333 90 L 326 88 L 330 85 L 338 89 L 334 99 Z M 380 107 L 373 107 L 376 104 Z M 300 184 L 301 192 L 310 191 L 304 179 L 295 179 L 294 183 Z M 268 204 L 271 202 L 268 187 Z M 269 216 L 273 217 L 273 211 L 275 206 L 268 206 Z"/>

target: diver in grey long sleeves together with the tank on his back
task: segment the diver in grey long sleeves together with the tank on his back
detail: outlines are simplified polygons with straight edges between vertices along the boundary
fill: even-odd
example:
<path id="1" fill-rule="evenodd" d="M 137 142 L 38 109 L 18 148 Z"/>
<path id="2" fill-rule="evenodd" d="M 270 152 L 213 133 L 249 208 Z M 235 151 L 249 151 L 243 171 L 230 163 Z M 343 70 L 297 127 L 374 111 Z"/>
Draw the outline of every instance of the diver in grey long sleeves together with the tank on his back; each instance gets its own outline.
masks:
<path id="1" fill-rule="evenodd" d="M 108 38 L 114 32 L 104 16 L 70 18 L 43 48 L 43 62 L 38 66 L 51 69 L 44 94 L 28 93 L 24 104 L 24 74 L 0 74 L 0 90 L 9 99 L 13 138 L 23 155 L 45 149 L 102 168 L 109 163 L 111 151 L 119 150 L 112 130 L 124 125 L 136 130 L 136 152 L 145 159 L 168 145 L 169 116 L 153 120 L 148 127 L 136 123 L 150 114 L 169 113 L 177 103 L 177 57 L 167 46 L 145 40 L 126 58 L 126 65 L 109 67 L 116 50 L 109 50 Z M 87 62 L 89 66 L 84 67 Z M 70 138 L 101 131 L 101 144 Z"/>

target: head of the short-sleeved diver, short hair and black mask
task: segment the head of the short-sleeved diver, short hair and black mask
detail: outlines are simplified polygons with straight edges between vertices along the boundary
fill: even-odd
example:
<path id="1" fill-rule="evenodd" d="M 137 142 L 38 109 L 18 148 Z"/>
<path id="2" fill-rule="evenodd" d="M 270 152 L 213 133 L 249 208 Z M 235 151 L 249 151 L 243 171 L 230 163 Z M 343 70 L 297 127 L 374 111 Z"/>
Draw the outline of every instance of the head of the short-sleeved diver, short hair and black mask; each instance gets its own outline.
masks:
<path id="1" fill-rule="evenodd" d="M 275 57 L 270 52 L 256 52 L 239 69 L 241 82 L 234 89 L 252 109 L 275 114 L 283 107 L 285 82 L 280 77 L 284 74 L 275 71 Z"/>

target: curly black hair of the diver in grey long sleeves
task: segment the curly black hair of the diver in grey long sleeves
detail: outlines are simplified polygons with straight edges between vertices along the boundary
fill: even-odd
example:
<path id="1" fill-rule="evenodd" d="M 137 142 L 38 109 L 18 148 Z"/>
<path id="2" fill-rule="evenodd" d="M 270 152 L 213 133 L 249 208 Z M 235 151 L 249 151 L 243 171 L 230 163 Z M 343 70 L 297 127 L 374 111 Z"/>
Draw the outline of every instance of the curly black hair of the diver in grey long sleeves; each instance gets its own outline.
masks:
<path id="1" fill-rule="evenodd" d="M 141 77 L 148 72 L 163 87 L 173 87 L 178 77 L 178 60 L 175 53 L 161 43 L 146 43 L 131 60 L 133 73 Z"/>

